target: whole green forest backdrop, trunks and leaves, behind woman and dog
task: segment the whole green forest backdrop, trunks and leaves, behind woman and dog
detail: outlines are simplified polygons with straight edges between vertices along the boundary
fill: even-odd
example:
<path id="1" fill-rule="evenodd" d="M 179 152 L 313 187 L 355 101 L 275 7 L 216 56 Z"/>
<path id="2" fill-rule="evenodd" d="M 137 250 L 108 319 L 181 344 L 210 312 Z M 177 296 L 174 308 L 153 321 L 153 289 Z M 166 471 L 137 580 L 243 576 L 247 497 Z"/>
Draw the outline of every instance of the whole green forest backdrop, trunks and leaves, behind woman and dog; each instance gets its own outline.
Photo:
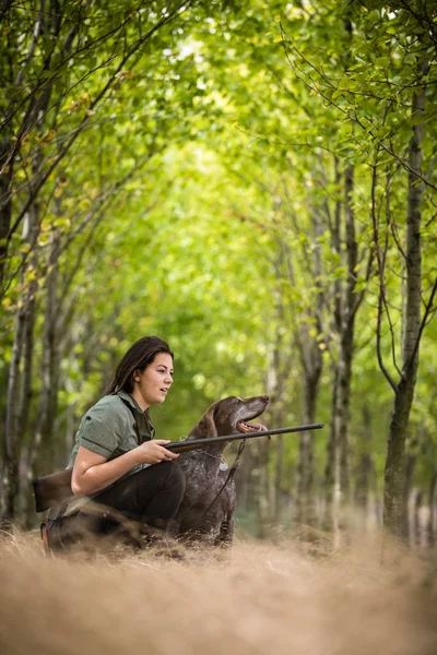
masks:
<path id="1" fill-rule="evenodd" d="M 176 354 L 162 437 L 226 395 L 326 424 L 248 446 L 260 524 L 354 501 L 401 533 L 414 489 L 434 508 L 432 4 L 12 0 L 0 21 L 0 513 L 32 523 L 29 480 L 145 334 Z"/>

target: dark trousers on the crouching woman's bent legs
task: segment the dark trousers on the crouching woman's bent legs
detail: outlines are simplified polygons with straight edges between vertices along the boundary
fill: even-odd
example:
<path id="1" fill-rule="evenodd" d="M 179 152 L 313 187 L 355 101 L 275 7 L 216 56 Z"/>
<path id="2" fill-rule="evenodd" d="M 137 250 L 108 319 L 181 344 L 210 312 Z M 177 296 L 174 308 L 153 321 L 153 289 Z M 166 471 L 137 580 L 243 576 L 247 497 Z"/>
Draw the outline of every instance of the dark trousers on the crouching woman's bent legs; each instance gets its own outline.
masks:
<path id="1" fill-rule="evenodd" d="M 68 547 L 82 540 L 86 534 L 115 533 L 122 527 L 123 517 L 134 521 L 139 527 L 166 531 L 179 509 L 184 492 L 185 474 L 177 464 L 153 464 L 104 489 L 74 516 L 57 519 L 51 525 L 49 522 L 50 547 Z"/>

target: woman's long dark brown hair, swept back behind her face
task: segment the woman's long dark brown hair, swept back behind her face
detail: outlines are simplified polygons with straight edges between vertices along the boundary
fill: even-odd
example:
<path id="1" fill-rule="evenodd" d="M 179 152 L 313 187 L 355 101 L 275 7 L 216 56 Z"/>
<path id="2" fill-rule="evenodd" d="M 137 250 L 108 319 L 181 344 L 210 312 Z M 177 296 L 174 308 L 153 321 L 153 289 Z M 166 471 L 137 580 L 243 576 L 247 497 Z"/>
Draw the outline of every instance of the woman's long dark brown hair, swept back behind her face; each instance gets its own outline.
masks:
<path id="1" fill-rule="evenodd" d="M 118 365 L 107 393 L 117 393 L 121 390 L 132 393 L 134 371 L 143 371 L 158 353 L 168 353 L 172 359 L 175 357 L 169 345 L 158 336 L 143 336 L 135 342 Z"/>

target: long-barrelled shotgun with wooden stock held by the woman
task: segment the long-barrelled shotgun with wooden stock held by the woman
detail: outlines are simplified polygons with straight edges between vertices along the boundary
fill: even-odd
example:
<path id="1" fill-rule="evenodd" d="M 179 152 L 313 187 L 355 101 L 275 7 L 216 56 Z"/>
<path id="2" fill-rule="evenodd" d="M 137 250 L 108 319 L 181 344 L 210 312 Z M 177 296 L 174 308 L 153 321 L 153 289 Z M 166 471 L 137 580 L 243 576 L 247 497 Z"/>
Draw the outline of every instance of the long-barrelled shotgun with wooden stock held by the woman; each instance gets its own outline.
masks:
<path id="1" fill-rule="evenodd" d="M 310 424 L 307 426 L 295 426 L 293 428 L 275 428 L 273 430 L 260 430 L 255 432 L 236 432 L 224 437 L 210 437 L 208 439 L 182 439 L 172 441 L 163 448 L 174 453 L 186 453 L 203 445 L 223 443 L 224 441 L 243 441 L 244 439 L 256 439 L 257 437 L 270 437 L 271 434 L 286 434 L 288 432 L 304 432 L 306 430 L 320 430 L 323 424 Z M 59 473 L 52 473 L 40 478 L 34 478 L 32 485 L 35 495 L 36 511 L 45 512 L 56 504 L 66 502 L 72 497 L 71 492 L 72 469 L 67 468 Z"/>

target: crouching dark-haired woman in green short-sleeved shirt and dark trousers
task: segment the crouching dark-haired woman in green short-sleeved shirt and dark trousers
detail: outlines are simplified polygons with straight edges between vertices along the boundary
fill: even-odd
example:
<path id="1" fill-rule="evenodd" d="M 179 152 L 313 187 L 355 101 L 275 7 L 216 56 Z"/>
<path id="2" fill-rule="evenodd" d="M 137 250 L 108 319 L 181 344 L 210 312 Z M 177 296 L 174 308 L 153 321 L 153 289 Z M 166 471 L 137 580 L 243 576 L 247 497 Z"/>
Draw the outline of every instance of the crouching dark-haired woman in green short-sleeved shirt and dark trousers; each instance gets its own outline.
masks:
<path id="1" fill-rule="evenodd" d="M 164 448 L 169 441 L 153 439 L 149 416 L 173 384 L 173 359 L 163 340 L 141 338 L 121 359 L 108 395 L 82 418 L 68 464 L 79 500 L 61 520 L 63 543 L 85 519 L 88 529 L 105 534 L 118 526 L 117 513 L 161 529 L 175 516 L 185 491 L 184 473 L 173 462 L 178 455 Z M 102 511 L 95 512 L 96 507 Z"/>

